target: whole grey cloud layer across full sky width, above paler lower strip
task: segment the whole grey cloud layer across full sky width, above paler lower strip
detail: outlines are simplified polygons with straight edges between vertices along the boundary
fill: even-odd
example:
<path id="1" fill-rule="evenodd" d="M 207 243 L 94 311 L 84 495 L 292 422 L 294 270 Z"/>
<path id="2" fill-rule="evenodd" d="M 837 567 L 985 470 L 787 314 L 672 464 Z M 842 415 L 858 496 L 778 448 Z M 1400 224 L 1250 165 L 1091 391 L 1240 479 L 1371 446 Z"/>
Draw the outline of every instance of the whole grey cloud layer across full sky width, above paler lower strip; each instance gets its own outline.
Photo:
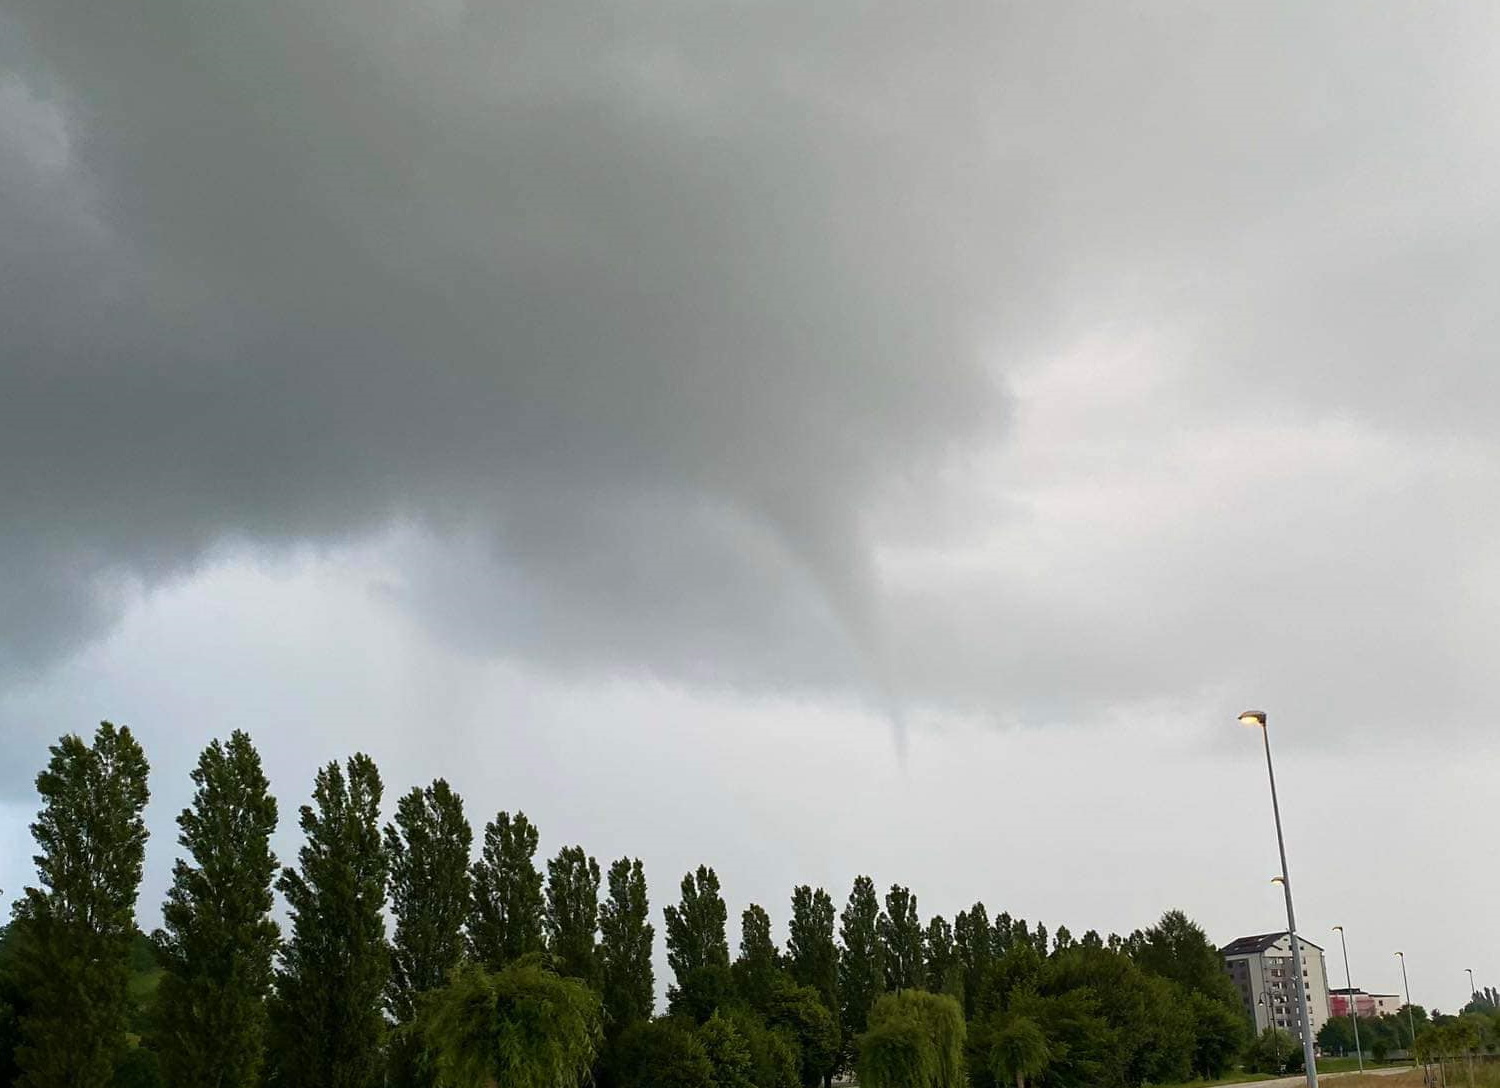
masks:
<path id="1" fill-rule="evenodd" d="M 12 666 L 216 548 L 416 525 L 388 593 L 548 665 L 1478 692 L 1490 11 L 6 12 Z M 1161 384 L 1016 432 L 1116 341 Z"/>

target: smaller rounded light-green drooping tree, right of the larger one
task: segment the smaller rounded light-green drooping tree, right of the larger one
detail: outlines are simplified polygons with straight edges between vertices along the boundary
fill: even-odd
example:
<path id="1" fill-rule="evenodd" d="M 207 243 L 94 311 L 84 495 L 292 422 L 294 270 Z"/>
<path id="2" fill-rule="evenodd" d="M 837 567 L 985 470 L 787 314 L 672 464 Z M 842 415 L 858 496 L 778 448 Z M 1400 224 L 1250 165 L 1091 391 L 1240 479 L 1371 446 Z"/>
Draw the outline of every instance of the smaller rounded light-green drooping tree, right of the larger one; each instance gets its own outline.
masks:
<path id="1" fill-rule="evenodd" d="M 942 993 L 885 993 L 860 1037 L 860 1083 L 867 1088 L 963 1088 L 964 1022 Z"/>

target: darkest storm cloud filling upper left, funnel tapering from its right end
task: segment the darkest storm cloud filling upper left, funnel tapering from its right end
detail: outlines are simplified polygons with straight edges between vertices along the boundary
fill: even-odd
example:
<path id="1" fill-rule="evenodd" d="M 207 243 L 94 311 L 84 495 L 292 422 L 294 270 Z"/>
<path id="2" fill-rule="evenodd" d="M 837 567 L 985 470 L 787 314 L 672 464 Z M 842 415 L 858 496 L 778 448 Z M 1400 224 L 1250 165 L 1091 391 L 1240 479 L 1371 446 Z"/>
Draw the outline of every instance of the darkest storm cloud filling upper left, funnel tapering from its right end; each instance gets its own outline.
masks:
<path id="1" fill-rule="evenodd" d="M 690 588 L 692 624 L 771 635 L 807 609 L 770 563 L 867 639 L 861 503 L 996 416 L 1017 206 L 957 26 L 10 12 L 20 107 L 66 135 L 66 164 L 4 147 L 12 660 L 96 633 L 110 579 L 393 518 L 490 539 L 542 626 L 650 627 Z"/>

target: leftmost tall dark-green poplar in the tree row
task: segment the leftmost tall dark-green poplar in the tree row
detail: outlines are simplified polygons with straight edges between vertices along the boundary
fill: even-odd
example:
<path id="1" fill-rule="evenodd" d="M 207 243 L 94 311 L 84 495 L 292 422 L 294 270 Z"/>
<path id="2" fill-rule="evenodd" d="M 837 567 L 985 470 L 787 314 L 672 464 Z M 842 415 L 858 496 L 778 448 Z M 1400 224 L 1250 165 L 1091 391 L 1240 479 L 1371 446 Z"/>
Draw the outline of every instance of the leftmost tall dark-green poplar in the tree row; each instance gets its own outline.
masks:
<path id="1" fill-rule="evenodd" d="M 32 824 L 40 887 L 26 888 L 12 926 L 26 993 L 18 1083 L 104 1088 L 126 1046 L 150 767 L 130 731 L 110 722 L 93 744 L 69 734 L 50 750 Z"/>

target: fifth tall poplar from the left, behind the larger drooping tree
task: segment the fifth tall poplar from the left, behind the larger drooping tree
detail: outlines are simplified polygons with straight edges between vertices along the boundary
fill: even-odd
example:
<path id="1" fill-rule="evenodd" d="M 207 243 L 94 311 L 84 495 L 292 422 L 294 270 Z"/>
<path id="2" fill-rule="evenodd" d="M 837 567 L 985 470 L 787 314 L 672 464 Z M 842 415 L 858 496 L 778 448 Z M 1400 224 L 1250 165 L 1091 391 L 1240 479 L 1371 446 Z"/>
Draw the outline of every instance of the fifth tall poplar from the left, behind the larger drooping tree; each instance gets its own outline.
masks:
<path id="1" fill-rule="evenodd" d="M 542 951 L 546 902 L 536 864 L 537 828 L 526 813 L 498 813 L 484 825 L 484 845 L 474 863 L 470 954 L 495 971 Z"/>

